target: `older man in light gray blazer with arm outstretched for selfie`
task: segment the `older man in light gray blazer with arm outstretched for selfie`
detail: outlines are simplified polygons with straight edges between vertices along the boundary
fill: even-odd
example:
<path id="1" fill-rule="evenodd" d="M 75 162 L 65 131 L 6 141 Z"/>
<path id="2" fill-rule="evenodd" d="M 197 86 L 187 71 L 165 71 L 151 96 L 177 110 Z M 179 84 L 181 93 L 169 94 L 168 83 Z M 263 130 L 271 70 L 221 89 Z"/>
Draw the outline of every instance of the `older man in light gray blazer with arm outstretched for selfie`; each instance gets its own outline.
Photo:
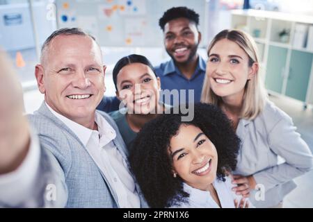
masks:
<path id="1" fill-rule="evenodd" d="M 10 97 L 5 111 L 14 112 L 0 114 L 12 125 L 0 127 L 0 207 L 147 207 L 117 126 L 96 111 L 105 69 L 99 45 L 81 29 L 47 38 L 35 67 L 45 101 L 31 125 Z"/>

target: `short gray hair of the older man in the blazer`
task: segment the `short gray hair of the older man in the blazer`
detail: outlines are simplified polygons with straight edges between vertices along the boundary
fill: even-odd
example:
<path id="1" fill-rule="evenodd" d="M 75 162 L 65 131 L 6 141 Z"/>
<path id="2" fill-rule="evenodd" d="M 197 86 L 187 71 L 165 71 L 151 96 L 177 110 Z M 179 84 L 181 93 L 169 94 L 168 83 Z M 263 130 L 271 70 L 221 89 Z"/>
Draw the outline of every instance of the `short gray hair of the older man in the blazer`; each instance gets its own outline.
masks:
<path id="1" fill-rule="evenodd" d="M 44 44 L 42 44 L 40 63 L 43 62 L 43 57 L 44 57 L 44 54 L 45 54 L 45 50 L 48 48 L 50 42 L 52 40 L 54 40 L 54 38 L 57 37 L 58 35 L 82 35 L 82 36 L 90 37 L 90 38 L 92 38 L 96 42 L 95 37 L 93 37 L 93 35 L 90 35 L 89 33 L 86 33 L 81 28 L 60 28 L 60 29 L 54 31 L 51 35 L 49 35 L 49 37 L 47 37 L 47 40 L 45 40 Z"/>

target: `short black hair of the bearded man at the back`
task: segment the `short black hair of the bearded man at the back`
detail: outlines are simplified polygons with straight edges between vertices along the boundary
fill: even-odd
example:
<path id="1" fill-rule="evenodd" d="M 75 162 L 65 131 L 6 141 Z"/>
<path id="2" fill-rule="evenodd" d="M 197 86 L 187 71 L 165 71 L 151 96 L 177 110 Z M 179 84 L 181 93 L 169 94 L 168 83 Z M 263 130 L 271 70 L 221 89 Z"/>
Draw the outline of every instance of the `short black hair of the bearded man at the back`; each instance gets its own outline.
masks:
<path id="1" fill-rule="evenodd" d="M 178 19 L 181 17 L 186 18 L 191 22 L 194 22 L 195 25 L 198 27 L 199 14 L 194 10 L 186 7 L 173 7 L 168 9 L 166 12 L 164 12 L 161 19 L 159 19 L 159 26 L 164 31 L 164 26 L 166 25 L 166 23 L 168 23 L 172 19 Z"/>

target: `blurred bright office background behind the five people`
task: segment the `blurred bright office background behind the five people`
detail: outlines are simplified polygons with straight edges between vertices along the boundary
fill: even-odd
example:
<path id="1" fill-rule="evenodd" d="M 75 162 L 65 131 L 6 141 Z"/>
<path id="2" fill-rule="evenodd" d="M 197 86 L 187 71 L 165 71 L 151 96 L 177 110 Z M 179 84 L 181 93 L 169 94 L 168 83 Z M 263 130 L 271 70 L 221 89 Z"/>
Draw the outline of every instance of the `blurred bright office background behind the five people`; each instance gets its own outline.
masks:
<path id="1" fill-rule="evenodd" d="M 111 71 L 122 56 L 140 53 L 153 65 L 168 60 L 158 23 L 172 6 L 200 14 L 203 58 L 225 28 L 241 28 L 255 38 L 270 99 L 294 119 L 313 151 L 313 0 L 0 0 L 0 46 L 14 62 L 25 111 L 42 103 L 34 67 L 42 43 L 57 28 L 79 26 L 95 35 L 109 67 L 105 95 L 113 96 Z M 284 207 L 313 207 L 313 172 L 296 183 Z"/>

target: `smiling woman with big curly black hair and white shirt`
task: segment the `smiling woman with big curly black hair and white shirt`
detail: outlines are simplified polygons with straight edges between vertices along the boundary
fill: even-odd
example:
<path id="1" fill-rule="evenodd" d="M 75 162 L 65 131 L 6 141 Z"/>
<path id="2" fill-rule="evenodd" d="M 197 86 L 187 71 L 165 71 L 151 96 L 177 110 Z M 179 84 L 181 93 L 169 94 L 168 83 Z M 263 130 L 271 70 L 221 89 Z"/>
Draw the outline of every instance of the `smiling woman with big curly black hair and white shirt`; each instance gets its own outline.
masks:
<path id="1" fill-rule="evenodd" d="M 177 112 L 178 111 L 178 112 Z M 177 114 L 175 114 L 177 113 Z M 249 207 L 232 192 L 239 138 L 225 114 L 196 104 L 192 121 L 179 108 L 143 126 L 130 154 L 131 170 L 150 207 Z M 250 205 L 251 206 L 251 205 Z"/>

